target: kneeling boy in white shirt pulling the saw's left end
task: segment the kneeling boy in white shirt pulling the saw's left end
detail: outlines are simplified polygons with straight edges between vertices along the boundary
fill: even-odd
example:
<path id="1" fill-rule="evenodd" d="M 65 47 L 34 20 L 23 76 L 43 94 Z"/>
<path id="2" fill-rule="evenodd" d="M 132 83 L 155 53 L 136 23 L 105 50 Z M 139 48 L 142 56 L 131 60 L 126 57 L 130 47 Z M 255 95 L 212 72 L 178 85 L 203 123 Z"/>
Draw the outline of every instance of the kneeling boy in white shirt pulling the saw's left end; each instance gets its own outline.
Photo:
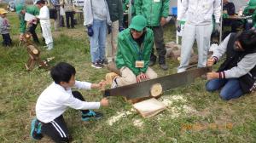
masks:
<path id="1" fill-rule="evenodd" d="M 77 89 L 101 89 L 103 83 L 87 83 L 75 80 L 75 68 L 65 62 L 54 66 L 50 75 L 54 80 L 47 89 L 38 97 L 36 104 L 36 116 L 32 120 L 31 136 L 40 140 L 43 134 L 48 135 L 55 142 L 70 142 L 67 125 L 62 114 L 67 107 L 80 110 L 82 120 L 99 119 L 102 113 L 93 112 L 90 109 L 99 109 L 100 106 L 108 106 L 108 100 L 103 98 L 100 102 L 86 102 Z"/>

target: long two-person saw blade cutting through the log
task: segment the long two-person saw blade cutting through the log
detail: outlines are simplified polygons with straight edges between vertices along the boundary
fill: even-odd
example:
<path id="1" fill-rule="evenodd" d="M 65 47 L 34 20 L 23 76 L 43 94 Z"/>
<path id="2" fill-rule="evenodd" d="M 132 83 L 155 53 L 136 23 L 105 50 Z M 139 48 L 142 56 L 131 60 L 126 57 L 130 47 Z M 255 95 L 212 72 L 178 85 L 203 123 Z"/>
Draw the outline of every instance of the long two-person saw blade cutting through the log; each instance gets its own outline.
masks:
<path id="1" fill-rule="evenodd" d="M 177 87 L 193 83 L 196 77 L 210 72 L 210 67 L 202 67 L 187 72 L 176 73 L 164 77 L 158 77 L 144 81 L 141 83 L 134 83 L 115 89 L 106 89 L 103 91 L 103 96 L 125 96 L 127 100 L 150 97 L 150 89 L 154 84 L 160 83 L 162 91 L 175 89 Z"/>

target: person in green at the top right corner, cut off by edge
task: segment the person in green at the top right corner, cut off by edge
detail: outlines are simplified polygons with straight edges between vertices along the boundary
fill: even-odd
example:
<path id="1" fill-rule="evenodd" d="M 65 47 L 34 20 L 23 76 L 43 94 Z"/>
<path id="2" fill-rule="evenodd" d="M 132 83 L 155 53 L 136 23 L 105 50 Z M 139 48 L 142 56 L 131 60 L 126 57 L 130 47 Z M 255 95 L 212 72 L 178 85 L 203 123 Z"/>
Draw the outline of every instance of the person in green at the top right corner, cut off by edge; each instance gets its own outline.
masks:
<path id="1" fill-rule="evenodd" d="M 244 9 L 243 15 L 252 16 L 252 18 L 247 19 L 245 24 L 245 30 L 251 28 L 256 28 L 256 0 L 250 0 L 248 6 Z"/>

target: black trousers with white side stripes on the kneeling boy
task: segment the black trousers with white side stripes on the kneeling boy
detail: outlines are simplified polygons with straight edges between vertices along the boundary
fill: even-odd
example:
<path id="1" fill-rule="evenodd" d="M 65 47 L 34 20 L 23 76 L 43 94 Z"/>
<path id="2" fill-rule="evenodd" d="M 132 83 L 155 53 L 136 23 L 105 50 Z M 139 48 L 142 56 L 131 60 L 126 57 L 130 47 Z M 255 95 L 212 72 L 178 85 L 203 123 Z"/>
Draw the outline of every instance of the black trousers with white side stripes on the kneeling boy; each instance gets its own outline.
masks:
<path id="1" fill-rule="evenodd" d="M 78 91 L 72 92 L 73 96 L 79 100 L 84 101 L 84 97 Z M 83 110 L 81 112 L 88 112 L 88 110 Z M 71 135 L 68 133 L 67 124 L 63 116 L 56 117 L 53 121 L 49 123 L 43 123 L 42 134 L 48 135 L 55 142 L 71 142 Z"/>

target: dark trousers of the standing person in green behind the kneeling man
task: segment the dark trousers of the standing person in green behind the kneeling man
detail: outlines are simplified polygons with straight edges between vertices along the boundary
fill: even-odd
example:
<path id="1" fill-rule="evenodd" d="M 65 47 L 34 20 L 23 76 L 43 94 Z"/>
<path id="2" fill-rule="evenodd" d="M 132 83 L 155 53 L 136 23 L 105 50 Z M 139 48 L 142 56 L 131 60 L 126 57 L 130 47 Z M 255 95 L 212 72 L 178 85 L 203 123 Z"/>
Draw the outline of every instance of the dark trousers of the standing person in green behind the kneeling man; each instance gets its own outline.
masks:
<path id="1" fill-rule="evenodd" d="M 162 26 L 151 26 L 149 27 L 154 32 L 154 45 L 159 55 L 159 64 L 166 64 L 166 45 L 164 43 L 164 31 Z M 154 48 L 152 49 L 151 61 L 156 60 L 156 56 L 154 55 Z"/>

